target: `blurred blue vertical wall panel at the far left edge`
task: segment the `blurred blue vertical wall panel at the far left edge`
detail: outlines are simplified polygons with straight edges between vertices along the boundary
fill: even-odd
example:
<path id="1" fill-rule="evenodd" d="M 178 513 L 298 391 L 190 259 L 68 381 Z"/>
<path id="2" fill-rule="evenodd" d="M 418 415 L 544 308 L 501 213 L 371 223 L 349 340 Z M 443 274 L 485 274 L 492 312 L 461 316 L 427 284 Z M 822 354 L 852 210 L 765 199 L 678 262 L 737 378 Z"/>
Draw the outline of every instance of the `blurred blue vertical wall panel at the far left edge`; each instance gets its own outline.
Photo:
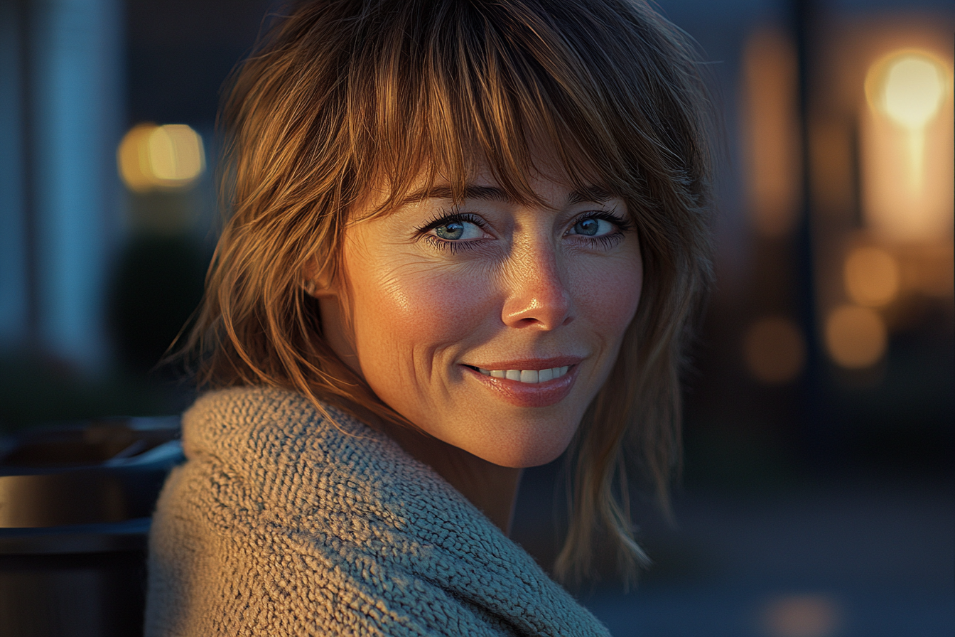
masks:
<path id="1" fill-rule="evenodd" d="M 119 227 L 122 3 L 21 3 L 26 16 L 3 7 L 0 127 L 11 143 L 0 154 L 0 329 L 8 342 L 32 341 L 72 366 L 102 370 L 103 282 Z"/>

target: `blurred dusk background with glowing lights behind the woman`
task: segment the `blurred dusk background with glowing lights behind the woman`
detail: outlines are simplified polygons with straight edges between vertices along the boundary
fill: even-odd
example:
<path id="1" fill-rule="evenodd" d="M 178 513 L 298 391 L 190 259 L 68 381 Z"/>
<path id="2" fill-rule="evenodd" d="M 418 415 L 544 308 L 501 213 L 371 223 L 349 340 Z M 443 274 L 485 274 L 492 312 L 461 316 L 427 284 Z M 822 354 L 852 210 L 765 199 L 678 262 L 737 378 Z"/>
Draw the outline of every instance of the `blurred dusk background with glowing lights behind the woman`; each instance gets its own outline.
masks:
<path id="1" fill-rule="evenodd" d="M 215 245 L 220 87 L 273 5 L 0 0 L 0 435 L 192 400 L 155 366 Z M 618 637 L 955 634 L 955 8 L 656 6 L 721 118 L 718 282 L 675 520 L 635 497 L 653 565 L 583 599 Z M 555 480 L 527 472 L 514 533 L 545 567 Z"/>

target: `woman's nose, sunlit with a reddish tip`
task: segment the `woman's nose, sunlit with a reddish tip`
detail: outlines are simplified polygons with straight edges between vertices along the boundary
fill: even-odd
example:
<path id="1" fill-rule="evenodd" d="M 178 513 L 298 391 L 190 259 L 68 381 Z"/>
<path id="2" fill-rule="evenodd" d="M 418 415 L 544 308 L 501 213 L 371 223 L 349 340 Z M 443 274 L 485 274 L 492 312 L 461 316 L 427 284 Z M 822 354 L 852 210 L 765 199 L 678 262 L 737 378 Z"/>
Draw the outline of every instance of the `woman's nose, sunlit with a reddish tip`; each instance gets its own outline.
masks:
<path id="1" fill-rule="evenodd" d="M 509 328 L 555 329 L 574 320 L 570 291 L 553 248 L 513 255 L 503 279 L 501 318 Z"/>

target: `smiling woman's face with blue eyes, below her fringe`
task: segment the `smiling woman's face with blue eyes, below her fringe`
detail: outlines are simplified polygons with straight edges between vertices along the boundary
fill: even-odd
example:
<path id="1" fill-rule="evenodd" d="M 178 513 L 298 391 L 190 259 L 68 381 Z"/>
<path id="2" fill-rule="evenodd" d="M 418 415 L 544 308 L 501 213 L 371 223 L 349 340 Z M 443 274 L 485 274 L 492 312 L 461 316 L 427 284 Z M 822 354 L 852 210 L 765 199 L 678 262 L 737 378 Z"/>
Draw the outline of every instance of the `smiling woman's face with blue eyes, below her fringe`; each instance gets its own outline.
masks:
<path id="1" fill-rule="evenodd" d="M 622 199 L 543 174 L 531 185 L 546 205 L 508 201 L 485 169 L 459 205 L 438 184 L 430 199 L 362 219 L 387 193 L 372 195 L 345 232 L 350 321 L 340 290 L 319 294 L 329 344 L 374 393 L 428 434 L 507 467 L 562 454 L 643 280 Z"/>

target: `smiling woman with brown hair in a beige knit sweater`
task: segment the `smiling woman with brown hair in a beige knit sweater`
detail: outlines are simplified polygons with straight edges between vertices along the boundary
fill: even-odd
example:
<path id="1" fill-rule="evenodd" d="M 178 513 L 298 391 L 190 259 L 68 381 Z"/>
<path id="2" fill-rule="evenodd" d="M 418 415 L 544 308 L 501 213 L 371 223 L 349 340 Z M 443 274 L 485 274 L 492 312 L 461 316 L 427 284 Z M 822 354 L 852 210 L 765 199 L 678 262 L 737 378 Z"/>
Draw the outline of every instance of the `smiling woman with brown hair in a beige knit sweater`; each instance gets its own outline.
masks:
<path id="1" fill-rule="evenodd" d="M 632 570 L 710 279 L 703 92 L 628 0 L 338 0 L 281 18 L 222 121 L 205 393 L 150 538 L 149 635 L 605 634 L 506 537 L 570 447 L 569 533 Z"/>

